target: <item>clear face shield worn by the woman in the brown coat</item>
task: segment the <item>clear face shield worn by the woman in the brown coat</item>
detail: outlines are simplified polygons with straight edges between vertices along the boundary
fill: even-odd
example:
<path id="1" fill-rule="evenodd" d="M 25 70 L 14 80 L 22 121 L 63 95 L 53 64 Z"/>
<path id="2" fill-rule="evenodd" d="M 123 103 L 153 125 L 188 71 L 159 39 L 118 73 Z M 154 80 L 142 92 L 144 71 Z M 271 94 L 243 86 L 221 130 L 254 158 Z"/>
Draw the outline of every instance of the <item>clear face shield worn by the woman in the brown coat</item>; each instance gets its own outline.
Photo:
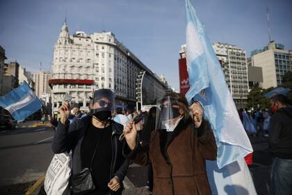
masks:
<path id="1" fill-rule="evenodd" d="M 178 101 L 170 98 L 170 96 L 158 100 L 156 130 L 162 129 L 173 132 L 182 118 L 181 114 L 179 114 L 179 108 Z"/>

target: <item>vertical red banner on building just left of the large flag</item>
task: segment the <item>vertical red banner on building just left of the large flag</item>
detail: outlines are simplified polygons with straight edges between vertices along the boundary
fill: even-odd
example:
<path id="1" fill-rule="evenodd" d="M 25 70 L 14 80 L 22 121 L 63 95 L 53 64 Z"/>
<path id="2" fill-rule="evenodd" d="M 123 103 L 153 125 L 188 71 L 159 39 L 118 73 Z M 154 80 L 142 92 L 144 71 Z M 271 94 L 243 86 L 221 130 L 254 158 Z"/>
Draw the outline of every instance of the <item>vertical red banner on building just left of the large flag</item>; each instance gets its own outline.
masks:
<path id="1" fill-rule="evenodd" d="M 186 68 L 186 59 L 179 59 L 179 88 L 180 93 L 184 95 L 190 88 L 188 81 L 188 70 Z"/>

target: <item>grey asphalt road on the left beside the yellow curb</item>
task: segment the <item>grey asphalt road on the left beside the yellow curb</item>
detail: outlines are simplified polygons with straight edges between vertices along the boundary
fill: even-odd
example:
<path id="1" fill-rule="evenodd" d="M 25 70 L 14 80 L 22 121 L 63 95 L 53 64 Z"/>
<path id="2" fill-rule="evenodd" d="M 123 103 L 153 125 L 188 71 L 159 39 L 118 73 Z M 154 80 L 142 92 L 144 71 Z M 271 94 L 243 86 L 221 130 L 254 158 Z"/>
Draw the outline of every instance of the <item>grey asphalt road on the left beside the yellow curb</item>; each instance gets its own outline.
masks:
<path id="1" fill-rule="evenodd" d="M 0 131 L 0 194 L 8 188 L 22 189 L 44 174 L 53 156 L 53 136 L 54 130 L 51 127 Z"/>

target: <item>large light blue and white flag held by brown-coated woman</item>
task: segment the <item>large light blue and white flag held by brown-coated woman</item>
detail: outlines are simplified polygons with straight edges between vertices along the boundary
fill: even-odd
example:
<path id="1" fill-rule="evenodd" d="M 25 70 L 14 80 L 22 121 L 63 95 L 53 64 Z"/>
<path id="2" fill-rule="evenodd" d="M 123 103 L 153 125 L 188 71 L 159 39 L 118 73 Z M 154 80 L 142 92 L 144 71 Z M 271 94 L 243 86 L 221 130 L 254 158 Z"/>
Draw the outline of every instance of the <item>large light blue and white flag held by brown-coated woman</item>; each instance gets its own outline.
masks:
<path id="1" fill-rule="evenodd" d="M 195 8 L 186 0 L 186 62 L 189 102 L 199 101 L 218 147 L 217 161 L 206 162 L 213 194 L 256 194 L 243 157 L 252 146 L 238 116 L 234 100 L 215 52 Z M 247 193 L 248 192 L 248 193 Z"/>

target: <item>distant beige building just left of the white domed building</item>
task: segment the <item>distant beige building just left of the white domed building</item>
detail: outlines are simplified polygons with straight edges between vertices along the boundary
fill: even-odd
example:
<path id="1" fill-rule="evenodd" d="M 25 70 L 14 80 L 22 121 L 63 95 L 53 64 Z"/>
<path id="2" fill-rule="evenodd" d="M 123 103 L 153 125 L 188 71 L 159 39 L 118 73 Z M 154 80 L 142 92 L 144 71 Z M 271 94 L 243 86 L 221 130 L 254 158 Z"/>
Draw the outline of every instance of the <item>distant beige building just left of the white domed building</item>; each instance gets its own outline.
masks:
<path id="1" fill-rule="evenodd" d="M 49 72 L 40 71 L 33 74 L 35 95 L 37 95 L 38 98 L 42 98 L 42 95 L 51 95 L 49 79 L 51 79 L 51 73 Z"/>

